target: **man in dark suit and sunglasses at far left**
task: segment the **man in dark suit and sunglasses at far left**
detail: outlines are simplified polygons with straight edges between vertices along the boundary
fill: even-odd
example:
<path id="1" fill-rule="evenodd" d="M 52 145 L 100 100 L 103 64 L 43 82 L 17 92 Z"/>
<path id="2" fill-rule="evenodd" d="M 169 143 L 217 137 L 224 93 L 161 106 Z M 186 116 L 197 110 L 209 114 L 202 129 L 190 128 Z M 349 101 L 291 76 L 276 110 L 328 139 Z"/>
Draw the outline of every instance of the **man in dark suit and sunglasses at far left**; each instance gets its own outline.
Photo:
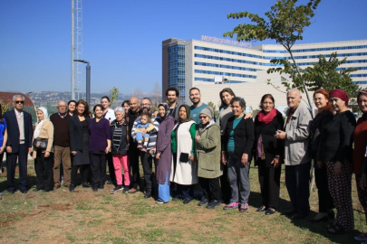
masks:
<path id="1" fill-rule="evenodd" d="M 7 123 L 6 143 L 6 177 L 9 193 L 15 192 L 15 167 L 16 160 L 19 164 L 19 190 L 26 193 L 27 189 L 27 154 L 32 152 L 32 116 L 23 111 L 24 97 L 14 95 L 14 110 L 4 114 Z"/>

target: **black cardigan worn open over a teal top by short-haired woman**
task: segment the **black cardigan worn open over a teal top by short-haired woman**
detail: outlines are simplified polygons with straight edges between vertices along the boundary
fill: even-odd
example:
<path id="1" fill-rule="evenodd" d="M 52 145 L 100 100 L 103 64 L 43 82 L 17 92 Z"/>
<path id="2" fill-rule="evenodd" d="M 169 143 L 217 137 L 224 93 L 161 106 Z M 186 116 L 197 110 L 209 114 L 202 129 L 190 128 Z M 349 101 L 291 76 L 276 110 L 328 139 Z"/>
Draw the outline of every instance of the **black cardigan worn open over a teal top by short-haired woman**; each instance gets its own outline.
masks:
<path id="1" fill-rule="evenodd" d="M 229 134 L 233 128 L 233 122 L 235 117 L 230 117 L 227 121 L 227 126 L 223 131 L 222 148 L 227 152 L 227 144 L 229 139 Z M 234 130 L 235 139 L 235 156 L 240 159 L 243 154 L 248 155 L 248 161 L 251 160 L 252 146 L 254 145 L 254 121 L 252 118 L 245 119 L 241 118 L 237 127 Z"/>

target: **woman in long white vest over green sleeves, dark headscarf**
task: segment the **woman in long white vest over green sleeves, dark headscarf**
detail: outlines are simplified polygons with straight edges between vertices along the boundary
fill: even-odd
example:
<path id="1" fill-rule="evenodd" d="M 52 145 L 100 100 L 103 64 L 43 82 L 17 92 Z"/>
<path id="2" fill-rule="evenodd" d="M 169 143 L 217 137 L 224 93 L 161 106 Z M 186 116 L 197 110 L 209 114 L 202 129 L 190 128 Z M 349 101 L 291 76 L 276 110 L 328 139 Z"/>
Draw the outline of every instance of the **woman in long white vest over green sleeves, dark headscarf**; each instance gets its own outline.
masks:
<path id="1" fill-rule="evenodd" d="M 188 105 L 179 107 L 179 124 L 171 133 L 173 160 L 170 181 L 178 184 L 184 204 L 194 199 L 193 184 L 198 183 L 197 165 L 195 164 L 196 123 L 190 118 Z"/>

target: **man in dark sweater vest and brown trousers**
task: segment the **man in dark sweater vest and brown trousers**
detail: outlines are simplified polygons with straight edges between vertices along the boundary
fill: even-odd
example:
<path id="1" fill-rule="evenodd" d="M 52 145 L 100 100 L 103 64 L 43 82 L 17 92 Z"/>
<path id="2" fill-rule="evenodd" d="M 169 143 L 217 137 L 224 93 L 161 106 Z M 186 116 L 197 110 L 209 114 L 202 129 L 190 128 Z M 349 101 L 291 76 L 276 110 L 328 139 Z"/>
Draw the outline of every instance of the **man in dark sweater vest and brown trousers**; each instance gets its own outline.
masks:
<path id="1" fill-rule="evenodd" d="M 66 102 L 59 101 L 57 113 L 50 120 L 53 122 L 53 189 L 61 187 L 60 165 L 63 163 L 63 185 L 70 186 L 72 161 L 70 158 L 69 119 Z"/>

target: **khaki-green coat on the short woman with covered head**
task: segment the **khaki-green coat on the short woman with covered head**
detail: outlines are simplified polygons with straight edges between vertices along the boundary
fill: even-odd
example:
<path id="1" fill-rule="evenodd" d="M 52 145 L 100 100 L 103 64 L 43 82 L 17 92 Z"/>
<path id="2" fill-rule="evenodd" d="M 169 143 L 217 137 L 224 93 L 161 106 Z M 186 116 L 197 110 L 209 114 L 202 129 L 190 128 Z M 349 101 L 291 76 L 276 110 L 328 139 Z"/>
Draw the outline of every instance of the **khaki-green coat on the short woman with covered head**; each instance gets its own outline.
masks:
<path id="1" fill-rule="evenodd" d="M 201 136 L 196 144 L 198 177 L 213 179 L 223 174 L 220 163 L 220 129 L 214 123 L 204 129 L 197 128 L 197 136 Z"/>

